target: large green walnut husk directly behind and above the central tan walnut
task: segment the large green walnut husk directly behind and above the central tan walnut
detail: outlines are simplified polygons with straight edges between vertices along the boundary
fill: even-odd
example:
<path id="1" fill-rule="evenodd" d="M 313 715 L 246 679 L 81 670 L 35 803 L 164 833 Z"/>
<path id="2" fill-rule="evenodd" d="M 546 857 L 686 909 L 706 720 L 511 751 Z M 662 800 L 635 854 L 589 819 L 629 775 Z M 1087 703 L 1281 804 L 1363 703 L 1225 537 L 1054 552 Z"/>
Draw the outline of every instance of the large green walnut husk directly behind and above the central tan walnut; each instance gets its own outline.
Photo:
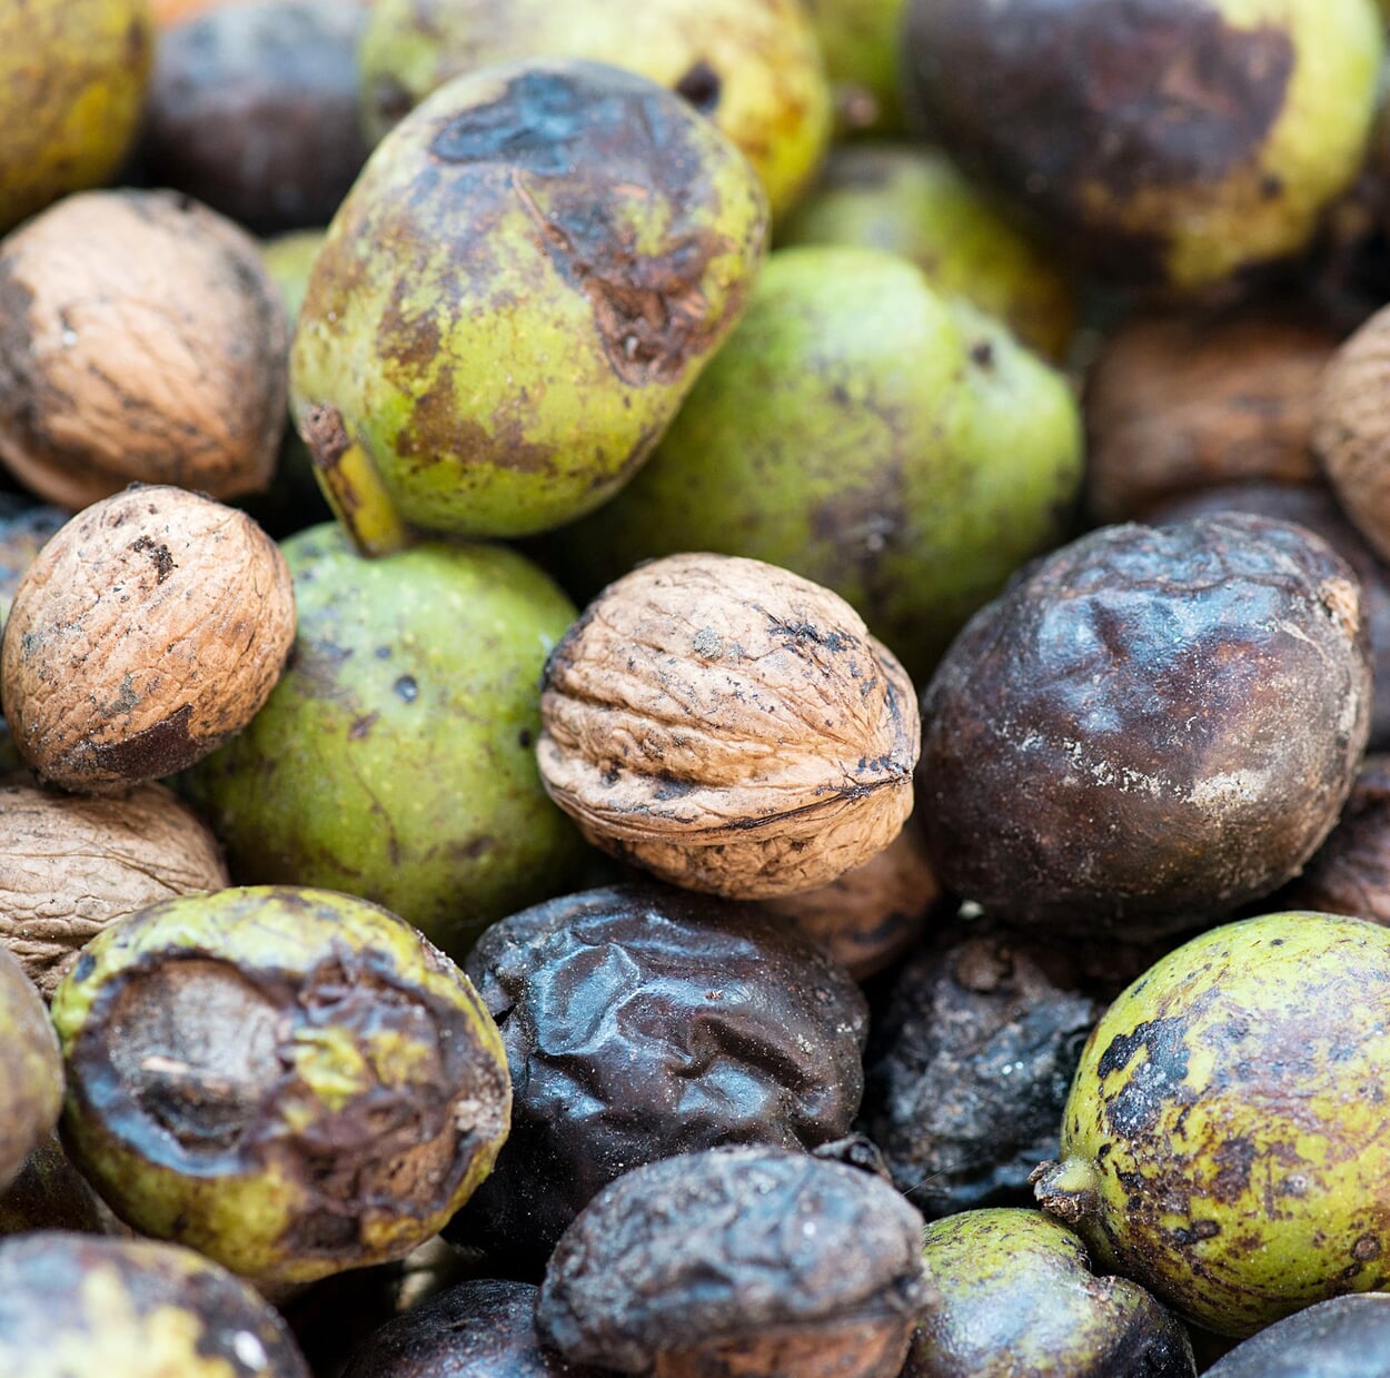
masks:
<path id="1" fill-rule="evenodd" d="M 895 254 L 780 249 L 656 455 L 556 548 L 585 588 L 678 551 L 794 570 L 923 683 L 1080 483 L 1076 400 L 1004 325 Z"/>

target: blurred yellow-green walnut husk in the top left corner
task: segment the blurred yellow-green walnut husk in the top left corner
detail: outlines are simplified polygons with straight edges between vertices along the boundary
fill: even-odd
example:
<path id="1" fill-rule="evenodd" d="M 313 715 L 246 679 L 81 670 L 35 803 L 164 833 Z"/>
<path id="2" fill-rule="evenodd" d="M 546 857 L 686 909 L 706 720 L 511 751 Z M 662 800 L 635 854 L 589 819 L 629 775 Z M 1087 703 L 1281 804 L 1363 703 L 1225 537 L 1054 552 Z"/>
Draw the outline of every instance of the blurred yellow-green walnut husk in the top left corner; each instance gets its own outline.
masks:
<path id="1" fill-rule="evenodd" d="M 0 234 L 115 175 L 153 47 L 147 0 L 0 6 Z"/>

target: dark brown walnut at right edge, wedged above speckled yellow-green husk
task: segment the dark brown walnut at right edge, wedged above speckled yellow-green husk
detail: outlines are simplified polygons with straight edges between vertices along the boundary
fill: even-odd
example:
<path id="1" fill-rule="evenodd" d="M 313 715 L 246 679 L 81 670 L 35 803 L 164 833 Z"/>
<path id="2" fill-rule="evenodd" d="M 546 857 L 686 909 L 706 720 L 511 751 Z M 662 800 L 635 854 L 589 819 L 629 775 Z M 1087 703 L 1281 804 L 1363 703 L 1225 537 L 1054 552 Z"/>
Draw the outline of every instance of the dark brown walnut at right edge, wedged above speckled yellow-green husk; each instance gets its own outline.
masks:
<path id="1" fill-rule="evenodd" d="M 1390 756 L 1362 761 L 1337 826 L 1279 904 L 1390 925 Z"/>

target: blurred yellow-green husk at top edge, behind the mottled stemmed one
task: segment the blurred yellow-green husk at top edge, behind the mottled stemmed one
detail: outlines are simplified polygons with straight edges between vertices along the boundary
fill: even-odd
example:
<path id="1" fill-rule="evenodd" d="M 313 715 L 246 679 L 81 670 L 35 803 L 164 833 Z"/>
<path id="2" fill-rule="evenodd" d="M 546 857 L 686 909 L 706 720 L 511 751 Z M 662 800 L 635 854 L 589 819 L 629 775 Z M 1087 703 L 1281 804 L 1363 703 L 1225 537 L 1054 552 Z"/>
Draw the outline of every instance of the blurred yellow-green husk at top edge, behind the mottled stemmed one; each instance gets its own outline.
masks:
<path id="1" fill-rule="evenodd" d="M 774 217 L 830 142 L 830 85 L 801 0 L 375 0 L 359 49 L 363 122 L 381 138 L 460 72 L 552 56 L 678 92 L 746 154 Z"/>

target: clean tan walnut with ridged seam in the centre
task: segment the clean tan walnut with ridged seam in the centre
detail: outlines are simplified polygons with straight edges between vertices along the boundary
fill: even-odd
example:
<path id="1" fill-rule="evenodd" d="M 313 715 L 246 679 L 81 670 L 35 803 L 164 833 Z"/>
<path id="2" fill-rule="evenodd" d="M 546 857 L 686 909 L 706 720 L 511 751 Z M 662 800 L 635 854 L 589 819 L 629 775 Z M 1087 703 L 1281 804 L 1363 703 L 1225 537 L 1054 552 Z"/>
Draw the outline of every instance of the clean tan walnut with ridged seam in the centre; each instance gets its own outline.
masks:
<path id="1" fill-rule="evenodd" d="M 591 843 L 673 884 L 828 884 L 898 834 L 920 744 L 902 666 L 837 594 L 760 560 L 673 555 L 555 648 L 537 743 Z"/>

